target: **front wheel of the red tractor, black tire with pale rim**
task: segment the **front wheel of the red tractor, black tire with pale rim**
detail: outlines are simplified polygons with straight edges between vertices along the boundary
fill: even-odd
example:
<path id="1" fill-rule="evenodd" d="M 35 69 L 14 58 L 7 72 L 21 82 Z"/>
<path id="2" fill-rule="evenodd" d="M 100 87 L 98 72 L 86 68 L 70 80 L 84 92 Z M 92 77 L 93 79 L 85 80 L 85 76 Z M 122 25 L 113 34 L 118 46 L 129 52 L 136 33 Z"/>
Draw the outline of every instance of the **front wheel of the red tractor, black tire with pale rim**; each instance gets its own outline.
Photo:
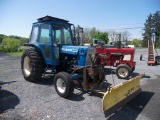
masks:
<path id="1" fill-rule="evenodd" d="M 119 79 L 127 79 L 131 75 L 131 68 L 126 64 L 121 64 L 116 68 L 116 75 Z"/>

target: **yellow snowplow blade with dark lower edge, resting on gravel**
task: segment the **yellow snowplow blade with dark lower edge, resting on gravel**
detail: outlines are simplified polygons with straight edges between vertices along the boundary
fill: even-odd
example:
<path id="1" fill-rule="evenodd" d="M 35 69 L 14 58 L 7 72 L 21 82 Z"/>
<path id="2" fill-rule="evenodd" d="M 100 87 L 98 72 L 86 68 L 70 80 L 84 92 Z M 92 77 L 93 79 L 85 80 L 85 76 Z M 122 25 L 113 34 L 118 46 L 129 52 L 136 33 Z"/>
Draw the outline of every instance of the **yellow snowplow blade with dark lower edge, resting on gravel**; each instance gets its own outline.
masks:
<path id="1" fill-rule="evenodd" d="M 120 83 L 108 90 L 102 99 L 105 117 L 111 115 L 141 92 L 140 79 L 144 74 Z"/>

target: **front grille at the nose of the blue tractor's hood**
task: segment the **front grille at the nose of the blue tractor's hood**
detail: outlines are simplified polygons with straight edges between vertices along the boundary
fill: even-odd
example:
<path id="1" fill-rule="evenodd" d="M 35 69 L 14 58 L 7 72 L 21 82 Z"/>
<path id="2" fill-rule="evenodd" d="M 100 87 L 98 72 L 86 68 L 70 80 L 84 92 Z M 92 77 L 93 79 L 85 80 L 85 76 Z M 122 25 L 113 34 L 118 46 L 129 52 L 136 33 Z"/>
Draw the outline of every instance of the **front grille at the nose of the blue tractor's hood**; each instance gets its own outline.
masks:
<path id="1" fill-rule="evenodd" d="M 92 64 L 92 61 L 91 61 L 89 55 L 91 55 L 92 59 L 94 59 L 95 53 L 96 53 L 96 49 L 94 47 L 89 47 L 88 48 L 87 57 L 86 57 L 86 64 L 85 64 L 86 66 Z"/>

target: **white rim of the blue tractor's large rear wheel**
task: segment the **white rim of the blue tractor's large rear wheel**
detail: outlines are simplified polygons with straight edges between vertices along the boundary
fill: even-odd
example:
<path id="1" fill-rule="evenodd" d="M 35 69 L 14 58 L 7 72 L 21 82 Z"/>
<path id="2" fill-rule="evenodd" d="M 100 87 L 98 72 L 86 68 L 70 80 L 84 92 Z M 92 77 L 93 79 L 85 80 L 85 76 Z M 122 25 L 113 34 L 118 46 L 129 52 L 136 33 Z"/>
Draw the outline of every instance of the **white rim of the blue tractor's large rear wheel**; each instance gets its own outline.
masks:
<path id="1" fill-rule="evenodd" d="M 31 65 L 30 65 L 30 58 L 26 56 L 24 58 L 24 73 L 28 77 L 31 74 Z"/>

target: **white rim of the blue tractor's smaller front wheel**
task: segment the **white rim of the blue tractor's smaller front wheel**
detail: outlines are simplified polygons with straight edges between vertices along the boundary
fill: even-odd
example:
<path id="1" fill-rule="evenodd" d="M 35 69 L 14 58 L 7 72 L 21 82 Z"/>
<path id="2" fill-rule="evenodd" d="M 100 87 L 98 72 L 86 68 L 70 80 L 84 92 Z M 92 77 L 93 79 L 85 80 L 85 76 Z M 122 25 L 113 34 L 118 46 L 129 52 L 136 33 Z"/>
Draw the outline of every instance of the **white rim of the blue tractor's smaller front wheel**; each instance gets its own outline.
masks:
<path id="1" fill-rule="evenodd" d="M 64 80 L 62 80 L 61 78 L 57 79 L 57 89 L 60 93 L 64 93 L 66 91 L 66 85 Z"/>

